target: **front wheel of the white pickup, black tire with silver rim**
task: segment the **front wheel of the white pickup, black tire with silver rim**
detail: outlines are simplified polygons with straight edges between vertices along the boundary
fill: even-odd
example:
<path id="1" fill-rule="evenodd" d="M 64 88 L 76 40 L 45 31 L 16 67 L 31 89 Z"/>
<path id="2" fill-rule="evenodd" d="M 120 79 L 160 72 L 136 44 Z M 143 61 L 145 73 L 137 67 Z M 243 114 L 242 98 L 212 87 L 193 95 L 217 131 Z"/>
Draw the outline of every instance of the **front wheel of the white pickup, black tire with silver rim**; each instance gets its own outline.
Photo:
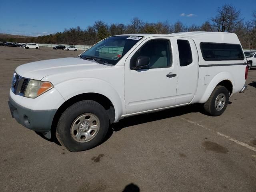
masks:
<path id="1" fill-rule="evenodd" d="M 84 151 L 100 144 L 108 128 L 109 118 L 103 106 L 95 101 L 85 100 L 73 104 L 63 112 L 56 127 L 56 137 L 69 151 Z"/>

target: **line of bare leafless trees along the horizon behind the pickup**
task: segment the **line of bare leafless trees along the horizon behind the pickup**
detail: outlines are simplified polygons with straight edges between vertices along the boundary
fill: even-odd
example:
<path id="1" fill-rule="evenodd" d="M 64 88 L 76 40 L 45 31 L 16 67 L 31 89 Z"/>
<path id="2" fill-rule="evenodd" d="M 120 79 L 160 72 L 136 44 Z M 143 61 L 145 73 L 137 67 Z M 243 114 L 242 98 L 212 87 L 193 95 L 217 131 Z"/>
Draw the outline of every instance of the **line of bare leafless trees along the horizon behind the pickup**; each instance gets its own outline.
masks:
<path id="1" fill-rule="evenodd" d="M 209 18 L 201 25 L 192 24 L 190 26 L 180 21 L 174 24 L 170 24 L 168 21 L 144 22 L 138 17 L 132 18 L 129 24 L 111 23 L 108 25 L 104 21 L 98 20 L 86 29 L 77 26 L 46 36 L 16 38 L 12 39 L 12 42 L 93 45 L 108 36 L 118 34 L 170 34 L 190 31 L 236 33 L 244 49 L 256 49 L 256 10 L 252 12 L 251 20 L 244 21 L 240 10 L 230 4 L 225 4 L 217 9 L 216 16 Z"/>

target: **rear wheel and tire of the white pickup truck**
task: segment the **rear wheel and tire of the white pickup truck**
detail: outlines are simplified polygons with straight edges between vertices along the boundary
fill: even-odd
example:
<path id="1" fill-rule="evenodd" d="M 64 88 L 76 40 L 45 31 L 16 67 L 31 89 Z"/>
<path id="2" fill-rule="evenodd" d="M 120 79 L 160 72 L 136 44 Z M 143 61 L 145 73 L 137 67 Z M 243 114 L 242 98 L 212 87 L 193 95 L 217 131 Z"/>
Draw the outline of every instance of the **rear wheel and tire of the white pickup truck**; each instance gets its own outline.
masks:
<path id="1" fill-rule="evenodd" d="M 204 110 L 211 116 L 220 116 L 227 108 L 229 92 L 226 87 L 218 85 L 210 98 L 204 103 Z"/>

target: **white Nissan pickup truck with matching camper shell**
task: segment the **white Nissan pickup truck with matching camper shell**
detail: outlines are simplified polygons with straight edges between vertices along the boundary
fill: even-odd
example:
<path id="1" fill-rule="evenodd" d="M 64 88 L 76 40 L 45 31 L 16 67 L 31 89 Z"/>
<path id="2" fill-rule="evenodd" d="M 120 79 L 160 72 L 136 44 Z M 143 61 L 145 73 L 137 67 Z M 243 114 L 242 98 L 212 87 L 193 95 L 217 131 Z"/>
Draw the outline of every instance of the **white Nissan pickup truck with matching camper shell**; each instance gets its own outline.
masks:
<path id="1" fill-rule="evenodd" d="M 18 66 L 8 103 L 20 124 L 76 152 L 128 116 L 194 103 L 219 116 L 246 89 L 247 73 L 236 34 L 118 35 L 77 58 Z"/>

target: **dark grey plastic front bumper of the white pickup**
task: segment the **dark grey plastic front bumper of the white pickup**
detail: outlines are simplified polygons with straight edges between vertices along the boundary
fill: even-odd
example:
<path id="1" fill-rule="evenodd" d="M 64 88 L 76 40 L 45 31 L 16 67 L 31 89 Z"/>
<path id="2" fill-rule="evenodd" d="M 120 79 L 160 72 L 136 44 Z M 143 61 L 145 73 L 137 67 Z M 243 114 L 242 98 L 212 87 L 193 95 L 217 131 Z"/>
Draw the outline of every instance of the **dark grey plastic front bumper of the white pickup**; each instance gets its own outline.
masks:
<path id="1" fill-rule="evenodd" d="M 12 117 L 15 118 L 18 123 L 36 132 L 48 133 L 48 136 L 45 136 L 47 138 L 50 137 L 52 120 L 57 110 L 31 110 L 17 104 L 10 96 L 8 104 Z"/>

